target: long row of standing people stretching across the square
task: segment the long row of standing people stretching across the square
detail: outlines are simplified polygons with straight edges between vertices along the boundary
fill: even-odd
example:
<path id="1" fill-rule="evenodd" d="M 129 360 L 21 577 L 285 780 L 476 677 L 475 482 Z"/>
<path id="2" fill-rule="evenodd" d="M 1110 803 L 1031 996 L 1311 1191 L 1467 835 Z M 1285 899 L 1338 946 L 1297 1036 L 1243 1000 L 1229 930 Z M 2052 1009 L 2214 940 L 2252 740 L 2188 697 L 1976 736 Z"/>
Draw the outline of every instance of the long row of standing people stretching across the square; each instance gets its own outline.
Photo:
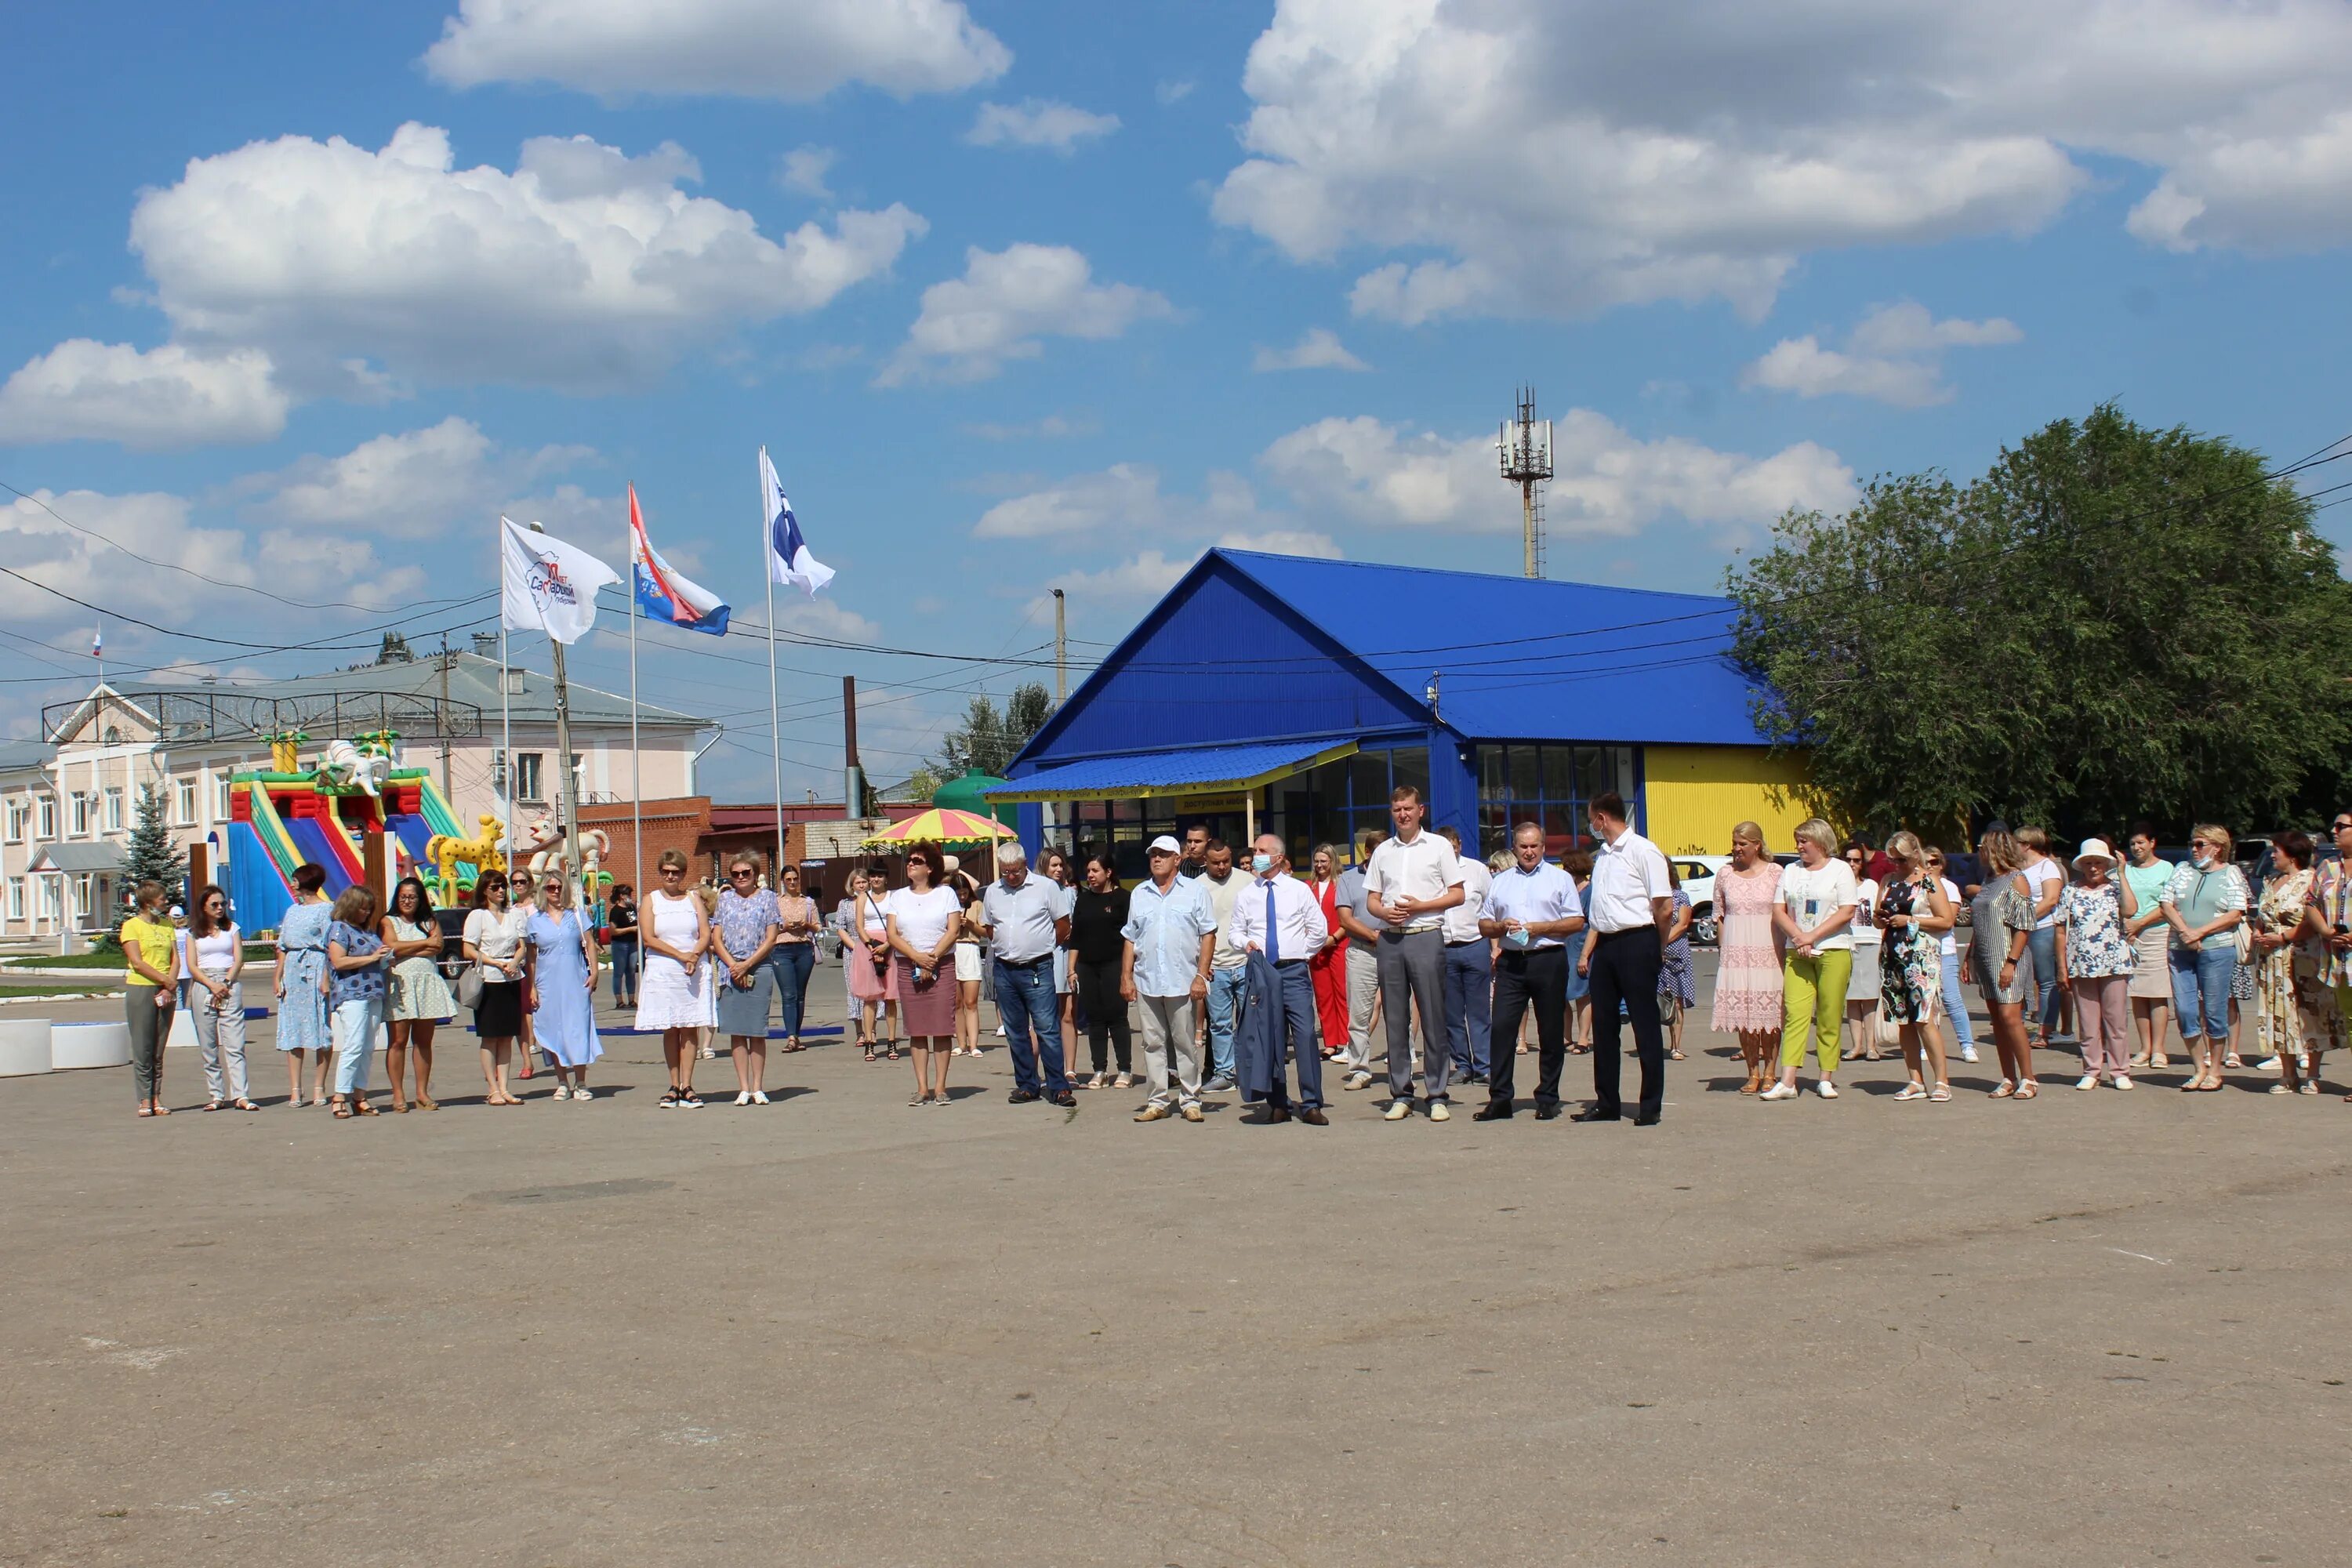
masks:
<path id="1" fill-rule="evenodd" d="M 783 865 L 771 886 L 757 853 L 731 856 L 727 886 L 710 889 L 689 886 L 687 858 L 666 851 L 661 886 L 642 905 L 633 889 L 612 889 L 604 926 L 562 872 L 522 889 L 485 872 L 454 985 L 421 879 L 400 879 L 386 910 L 365 886 L 329 905 L 325 870 L 303 865 L 270 973 L 287 1103 L 381 1114 L 369 1100 L 381 1039 L 390 1110 L 437 1110 L 435 1034 L 459 1011 L 473 1013 L 487 1105 L 522 1105 L 517 1044 L 520 1077 L 541 1060 L 555 1100 L 597 1098 L 588 1072 L 602 1056 L 602 938 L 614 1001 L 663 1039 L 661 1105 L 703 1105 L 696 1060 L 720 1037 L 736 1105 L 767 1105 L 769 1020 L 783 1018 L 783 1053 L 802 1048 L 816 943 L 830 931 L 847 1032 L 866 1060 L 896 1060 L 903 1039 L 915 1107 L 948 1105 L 948 1065 L 981 1053 L 981 1006 L 993 999 L 1016 1105 L 1068 1107 L 1077 1088 L 1141 1081 L 1136 1121 L 1202 1121 L 1207 1095 L 1240 1091 L 1270 1124 L 1324 1126 L 1329 1065 L 1343 1091 L 1385 1077 L 1390 1121 L 1416 1110 L 1451 1119 L 1456 1084 L 1482 1086 L 1475 1119 L 1498 1121 L 1519 1107 L 1515 1058 L 1534 1053 L 1534 1114 L 1555 1119 L 1566 1058 L 1583 1053 L 1592 1095 L 1573 1119 L 1613 1121 L 1628 1114 L 1618 1079 L 1630 1027 L 1630 1119 L 1656 1124 L 1665 1063 L 1682 1060 L 1696 1006 L 1693 907 L 1625 804 L 1592 799 L 1590 849 L 1557 863 L 1536 823 L 1517 825 L 1491 863 L 1465 856 L 1451 830 L 1425 830 L 1409 785 L 1390 818 L 1392 832 L 1367 832 L 1352 856 L 1315 846 L 1305 877 L 1279 835 L 1258 835 L 1242 867 L 1228 844 L 1190 827 L 1183 842 L 1152 839 L 1150 875 L 1134 889 L 1108 853 L 1082 856 L 1073 872 L 1054 849 L 1033 870 L 1004 844 L 981 884 L 955 856 L 915 844 L 901 886 L 889 886 L 887 865 L 863 867 L 830 917 L 802 891 L 800 867 Z M 2197 825 L 2178 865 L 2147 825 L 2122 853 L 2093 837 L 2060 858 L 2037 827 L 1992 823 L 1973 853 L 1947 856 L 1915 832 L 1872 849 L 1809 820 L 1783 860 L 1757 823 L 1738 823 L 1715 877 L 1708 1023 L 1738 1041 L 1740 1093 L 1766 1103 L 1802 1093 L 1809 1058 L 1811 1091 L 1835 1100 L 1842 1063 L 1884 1048 L 1898 1048 L 1907 1072 L 1896 1103 L 1947 1103 L 1950 1063 L 1978 1060 L 1964 983 L 1990 1020 L 1997 1100 L 2037 1098 L 2034 1053 L 2063 1044 L 2079 1048 L 2077 1088 L 2129 1091 L 2136 1072 L 2169 1067 L 2173 1020 L 2190 1067 L 2180 1088 L 2211 1093 L 2241 1067 L 2249 1016 L 2260 1070 L 2277 1074 L 2272 1093 L 2312 1095 L 2352 1016 L 2352 813 L 2338 813 L 2331 835 L 2333 856 L 2303 832 L 2270 837 L 2256 891 L 2218 823 Z M 160 1079 L 174 1006 L 193 1011 L 207 1110 L 256 1110 L 245 938 L 228 898 L 200 889 L 183 924 L 162 903 L 162 889 L 143 884 L 120 931 L 139 1114 L 169 1114 Z M 1080 1037 L 1087 1079 L 1070 1065 Z"/>

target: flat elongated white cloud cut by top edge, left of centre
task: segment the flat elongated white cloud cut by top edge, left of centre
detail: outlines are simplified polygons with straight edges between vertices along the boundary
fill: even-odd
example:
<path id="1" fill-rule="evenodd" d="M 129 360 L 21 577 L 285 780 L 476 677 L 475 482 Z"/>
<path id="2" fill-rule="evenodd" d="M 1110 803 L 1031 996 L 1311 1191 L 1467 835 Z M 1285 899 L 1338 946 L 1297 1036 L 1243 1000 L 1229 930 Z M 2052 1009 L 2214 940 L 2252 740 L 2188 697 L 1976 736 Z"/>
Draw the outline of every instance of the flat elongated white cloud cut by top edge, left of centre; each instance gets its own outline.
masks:
<path id="1" fill-rule="evenodd" d="M 459 0 L 426 71 L 452 87 L 557 82 L 804 101 L 847 82 L 962 92 L 1014 56 L 960 0 Z"/>

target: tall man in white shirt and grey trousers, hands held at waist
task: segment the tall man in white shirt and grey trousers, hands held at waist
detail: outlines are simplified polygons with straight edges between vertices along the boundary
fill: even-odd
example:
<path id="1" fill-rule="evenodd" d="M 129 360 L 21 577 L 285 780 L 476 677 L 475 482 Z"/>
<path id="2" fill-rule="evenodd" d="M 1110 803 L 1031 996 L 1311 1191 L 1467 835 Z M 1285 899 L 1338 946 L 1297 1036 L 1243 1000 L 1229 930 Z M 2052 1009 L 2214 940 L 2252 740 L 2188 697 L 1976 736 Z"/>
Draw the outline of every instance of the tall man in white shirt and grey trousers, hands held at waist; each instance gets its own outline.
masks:
<path id="1" fill-rule="evenodd" d="M 1414 1004 L 1421 1004 L 1421 1088 L 1430 1121 L 1446 1121 L 1446 1079 L 1454 1056 L 1446 1041 L 1446 910 L 1463 900 L 1463 863 L 1454 846 L 1421 830 L 1428 806 L 1421 790 L 1397 785 L 1388 795 L 1388 818 L 1397 832 L 1371 851 L 1364 867 L 1364 905 L 1381 924 L 1381 1011 L 1388 1016 L 1388 1121 L 1414 1114 Z"/>

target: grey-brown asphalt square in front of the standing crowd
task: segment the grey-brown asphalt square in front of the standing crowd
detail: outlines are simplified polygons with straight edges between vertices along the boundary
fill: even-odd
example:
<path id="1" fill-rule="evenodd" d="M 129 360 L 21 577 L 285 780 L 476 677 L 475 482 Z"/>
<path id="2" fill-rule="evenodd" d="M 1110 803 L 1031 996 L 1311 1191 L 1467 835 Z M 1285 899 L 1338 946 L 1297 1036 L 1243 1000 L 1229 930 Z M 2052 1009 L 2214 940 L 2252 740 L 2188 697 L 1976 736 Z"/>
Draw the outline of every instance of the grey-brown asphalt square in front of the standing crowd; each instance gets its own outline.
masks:
<path id="1" fill-rule="evenodd" d="M 1136 1126 L 1141 1095 L 1004 1105 L 1002 1048 L 908 1110 L 906 1063 L 837 1044 L 774 1056 L 767 1110 L 656 1112 L 652 1039 L 609 1041 L 602 1100 L 489 1110 L 456 1037 L 440 1112 L 339 1124 L 278 1103 L 261 1041 L 259 1114 L 0 1081 L 0 1563 L 2352 1540 L 2340 1074 L 2074 1093 L 2051 1053 L 2032 1105 L 1966 1067 L 1891 1105 L 1898 1065 L 1757 1105 L 1693 1030 L 1653 1131 L 1390 1126 L 1376 1093 Z"/>

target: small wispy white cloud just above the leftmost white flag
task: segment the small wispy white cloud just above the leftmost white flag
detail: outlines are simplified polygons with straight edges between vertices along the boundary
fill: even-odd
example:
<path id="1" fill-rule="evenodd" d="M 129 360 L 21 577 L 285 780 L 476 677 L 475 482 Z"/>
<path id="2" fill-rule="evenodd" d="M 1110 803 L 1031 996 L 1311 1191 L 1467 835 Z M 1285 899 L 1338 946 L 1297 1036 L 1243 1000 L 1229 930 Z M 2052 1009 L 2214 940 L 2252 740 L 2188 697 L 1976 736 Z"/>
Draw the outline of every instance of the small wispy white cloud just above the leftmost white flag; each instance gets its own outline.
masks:
<path id="1" fill-rule="evenodd" d="M 480 425 L 452 414 L 426 430 L 379 435 L 343 456 L 301 458 L 245 484 L 268 489 L 254 505 L 261 517 L 414 536 L 482 524 L 524 484 L 593 458 L 588 447 L 503 451 Z M 607 496 L 602 505 L 609 510 L 614 501 Z"/>

